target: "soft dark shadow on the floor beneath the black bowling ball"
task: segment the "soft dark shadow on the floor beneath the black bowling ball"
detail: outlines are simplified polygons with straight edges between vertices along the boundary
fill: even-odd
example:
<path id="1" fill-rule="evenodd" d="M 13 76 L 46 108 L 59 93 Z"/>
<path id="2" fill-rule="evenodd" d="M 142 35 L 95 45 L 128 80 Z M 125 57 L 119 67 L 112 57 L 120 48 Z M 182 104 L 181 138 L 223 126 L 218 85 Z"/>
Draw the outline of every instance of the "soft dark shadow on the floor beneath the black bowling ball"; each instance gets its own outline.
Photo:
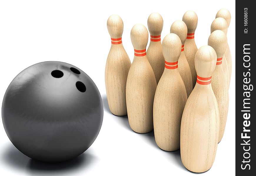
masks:
<path id="1" fill-rule="evenodd" d="M 93 163 L 95 157 L 88 153 L 84 152 L 81 155 L 60 163 L 44 163 L 41 161 L 37 161 L 31 159 L 21 153 L 18 149 L 16 149 L 12 144 L 10 144 L 1 156 L 1 160 L 10 165 L 14 169 L 26 169 L 28 172 L 31 172 L 33 175 L 38 173 L 61 173 L 78 170 L 79 168 L 89 167 L 90 164 Z"/>

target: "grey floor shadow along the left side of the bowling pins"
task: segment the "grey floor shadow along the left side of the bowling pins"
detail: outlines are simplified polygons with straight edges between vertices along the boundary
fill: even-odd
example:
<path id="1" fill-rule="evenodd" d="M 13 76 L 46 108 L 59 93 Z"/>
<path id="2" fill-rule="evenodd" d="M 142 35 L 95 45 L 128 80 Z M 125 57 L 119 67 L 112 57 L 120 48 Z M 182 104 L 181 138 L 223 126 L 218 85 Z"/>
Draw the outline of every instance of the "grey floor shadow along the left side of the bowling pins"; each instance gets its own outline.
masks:
<path id="1" fill-rule="evenodd" d="M 107 111 L 109 114 L 112 114 L 112 112 L 109 109 L 106 94 L 102 95 L 102 102 L 103 102 L 103 106 L 104 106 L 104 111 Z M 114 114 L 112 114 L 112 115 L 116 116 Z M 116 116 L 116 117 L 118 117 L 118 119 L 121 121 L 122 125 L 124 125 L 126 128 L 128 128 L 129 130 L 132 131 L 132 129 L 129 125 L 127 116 Z M 132 132 L 134 132 L 134 131 L 132 131 Z M 134 132 L 134 133 L 136 133 L 136 132 Z M 149 143 L 151 143 L 152 145 L 157 147 L 159 150 L 162 150 L 156 144 L 154 131 L 151 131 L 149 133 L 144 133 L 144 134 L 138 133 L 138 135 L 144 136 L 149 141 Z M 168 151 L 164 151 L 164 150 L 162 150 L 162 151 L 165 152 L 167 155 L 169 155 L 171 157 L 171 160 L 174 160 L 174 162 L 177 163 L 177 166 L 182 167 L 184 170 L 187 170 L 182 164 L 181 157 L 180 157 L 180 150 L 176 150 L 176 151 L 173 151 L 173 152 L 168 152 Z M 187 170 L 187 171 L 189 171 L 189 170 Z M 192 173 L 194 173 L 194 172 L 192 172 Z"/>

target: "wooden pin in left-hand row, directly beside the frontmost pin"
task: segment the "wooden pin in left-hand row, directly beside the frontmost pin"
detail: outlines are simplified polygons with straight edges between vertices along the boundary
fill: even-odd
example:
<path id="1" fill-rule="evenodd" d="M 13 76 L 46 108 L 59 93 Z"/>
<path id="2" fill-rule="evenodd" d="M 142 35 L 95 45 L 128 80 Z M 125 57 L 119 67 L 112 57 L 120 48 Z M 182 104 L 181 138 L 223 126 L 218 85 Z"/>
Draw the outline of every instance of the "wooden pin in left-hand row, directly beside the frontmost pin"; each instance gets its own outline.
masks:
<path id="1" fill-rule="evenodd" d="M 154 135 L 159 148 L 174 151 L 180 148 L 180 123 L 187 101 L 185 85 L 178 71 L 182 43 L 170 33 L 163 40 L 164 73 L 154 97 Z"/>

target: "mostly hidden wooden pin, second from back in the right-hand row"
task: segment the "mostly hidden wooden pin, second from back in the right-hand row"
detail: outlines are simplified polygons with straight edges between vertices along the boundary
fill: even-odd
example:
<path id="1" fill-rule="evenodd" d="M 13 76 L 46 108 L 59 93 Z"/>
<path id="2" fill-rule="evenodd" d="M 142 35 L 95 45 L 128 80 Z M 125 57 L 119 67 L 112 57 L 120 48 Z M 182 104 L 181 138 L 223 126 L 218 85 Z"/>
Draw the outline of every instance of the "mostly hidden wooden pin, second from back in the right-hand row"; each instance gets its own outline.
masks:
<path id="1" fill-rule="evenodd" d="M 227 35 L 227 22 L 224 18 L 221 18 L 221 17 L 218 17 L 216 18 L 215 20 L 213 20 L 212 22 L 212 25 L 211 25 L 211 33 L 213 31 L 216 31 L 216 30 L 221 30 L 223 31 L 226 35 Z M 227 47 L 228 47 L 228 44 L 227 44 Z M 227 49 L 226 49 L 227 50 Z M 225 51 L 226 53 L 226 51 Z M 225 57 L 225 54 L 222 58 L 222 67 L 223 67 L 223 71 L 224 73 L 228 76 L 228 87 L 230 85 L 230 73 L 229 72 L 229 69 L 228 69 L 228 65 L 227 65 L 227 59 Z"/>

